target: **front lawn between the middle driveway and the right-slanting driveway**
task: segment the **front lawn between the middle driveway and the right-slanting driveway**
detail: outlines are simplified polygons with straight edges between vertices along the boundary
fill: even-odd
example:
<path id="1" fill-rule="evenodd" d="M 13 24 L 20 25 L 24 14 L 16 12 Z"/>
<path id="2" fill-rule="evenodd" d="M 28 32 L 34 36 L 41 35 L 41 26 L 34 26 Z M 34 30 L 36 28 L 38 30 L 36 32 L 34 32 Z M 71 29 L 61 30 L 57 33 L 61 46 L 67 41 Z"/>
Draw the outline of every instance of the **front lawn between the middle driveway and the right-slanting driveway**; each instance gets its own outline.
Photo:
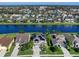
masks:
<path id="1" fill-rule="evenodd" d="M 44 49 L 41 50 L 40 54 L 41 55 L 62 55 L 63 54 L 60 47 L 56 47 L 53 49 L 54 49 L 54 52 L 52 50 L 50 50 L 49 47 L 44 47 Z"/>

